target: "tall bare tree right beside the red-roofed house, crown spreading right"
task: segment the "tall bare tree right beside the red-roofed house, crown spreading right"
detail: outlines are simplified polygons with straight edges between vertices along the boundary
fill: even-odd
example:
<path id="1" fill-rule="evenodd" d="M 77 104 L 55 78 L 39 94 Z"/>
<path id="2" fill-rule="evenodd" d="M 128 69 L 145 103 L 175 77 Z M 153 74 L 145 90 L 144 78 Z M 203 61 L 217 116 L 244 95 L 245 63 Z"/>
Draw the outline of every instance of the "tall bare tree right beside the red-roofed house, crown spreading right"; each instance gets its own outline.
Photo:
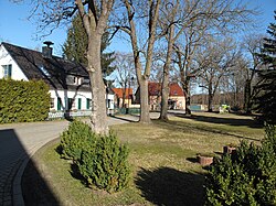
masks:
<path id="1" fill-rule="evenodd" d="M 198 68 L 191 67 L 198 47 L 205 37 L 214 33 L 234 32 L 243 26 L 252 25 L 252 14 L 256 10 L 246 8 L 246 3 L 235 3 L 233 0 L 185 1 L 187 11 L 181 24 L 183 37 L 173 45 L 181 77 L 181 85 L 185 94 L 185 113 L 190 115 L 190 82 L 197 76 Z"/>

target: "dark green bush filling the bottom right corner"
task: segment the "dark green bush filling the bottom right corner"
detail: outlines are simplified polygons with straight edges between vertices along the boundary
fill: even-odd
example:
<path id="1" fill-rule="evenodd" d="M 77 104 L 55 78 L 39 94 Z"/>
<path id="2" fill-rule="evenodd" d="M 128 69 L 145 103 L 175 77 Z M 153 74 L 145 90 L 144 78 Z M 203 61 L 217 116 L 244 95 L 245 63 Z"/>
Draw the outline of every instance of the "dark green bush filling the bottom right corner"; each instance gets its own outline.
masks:
<path id="1" fill-rule="evenodd" d="M 235 155 L 214 161 L 205 183 L 205 205 L 276 205 L 275 127 L 262 145 L 241 142 Z"/>

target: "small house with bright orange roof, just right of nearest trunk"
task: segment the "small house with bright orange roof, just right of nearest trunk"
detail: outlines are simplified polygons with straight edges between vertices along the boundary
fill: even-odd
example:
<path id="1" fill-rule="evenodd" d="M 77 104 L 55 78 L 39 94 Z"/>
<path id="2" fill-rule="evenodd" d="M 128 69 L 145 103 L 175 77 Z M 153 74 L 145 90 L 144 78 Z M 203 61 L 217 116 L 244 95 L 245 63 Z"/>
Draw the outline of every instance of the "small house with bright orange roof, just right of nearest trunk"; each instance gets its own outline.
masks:
<path id="1" fill-rule="evenodd" d="M 113 88 L 115 94 L 115 106 L 117 108 L 130 108 L 132 105 L 132 88 Z"/>

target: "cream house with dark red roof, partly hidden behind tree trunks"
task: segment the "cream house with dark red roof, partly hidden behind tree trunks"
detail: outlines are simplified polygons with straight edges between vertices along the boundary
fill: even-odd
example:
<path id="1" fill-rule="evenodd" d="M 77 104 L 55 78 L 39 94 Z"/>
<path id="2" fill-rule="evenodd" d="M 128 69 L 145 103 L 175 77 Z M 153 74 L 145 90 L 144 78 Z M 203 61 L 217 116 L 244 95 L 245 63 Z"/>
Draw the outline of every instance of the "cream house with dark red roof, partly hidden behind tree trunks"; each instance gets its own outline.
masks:
<path id="1" fill-rule="evenodd" d="M 161 84 L 149 82 L 149 105 L 150 110 L 160 110 L 161 108 Z M 139 100 L 139 88 L 136 93 L 136 102 Z M 184 109 L 185 107 L 185 96 L 183 89 L 179 86 L 178 83 L 171 83 L 169 85 L 169 99 L 168 99 L 168 109 Z"/>

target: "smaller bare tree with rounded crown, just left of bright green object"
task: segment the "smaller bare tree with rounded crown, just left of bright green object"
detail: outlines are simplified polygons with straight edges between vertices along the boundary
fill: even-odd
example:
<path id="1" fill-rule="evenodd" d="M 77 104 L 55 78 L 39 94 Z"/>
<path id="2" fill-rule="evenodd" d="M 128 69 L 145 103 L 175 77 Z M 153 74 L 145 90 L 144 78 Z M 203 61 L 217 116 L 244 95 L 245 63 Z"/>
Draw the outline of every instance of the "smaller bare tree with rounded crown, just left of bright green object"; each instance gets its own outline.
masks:
<path id="1" fill-rule="evenodd" d="M 235 42 L 232 39 L 215 40 L 210 39 L 209 42 L 201 46 L 201 53 L 197 56 L 197 67 L 200 87 L 208 90 L 208 111 L 212 111 L 212 104 L 215 93 L 224 76 L 230 76 L 231 68 L 235 65 L 237 56 Z"/>

